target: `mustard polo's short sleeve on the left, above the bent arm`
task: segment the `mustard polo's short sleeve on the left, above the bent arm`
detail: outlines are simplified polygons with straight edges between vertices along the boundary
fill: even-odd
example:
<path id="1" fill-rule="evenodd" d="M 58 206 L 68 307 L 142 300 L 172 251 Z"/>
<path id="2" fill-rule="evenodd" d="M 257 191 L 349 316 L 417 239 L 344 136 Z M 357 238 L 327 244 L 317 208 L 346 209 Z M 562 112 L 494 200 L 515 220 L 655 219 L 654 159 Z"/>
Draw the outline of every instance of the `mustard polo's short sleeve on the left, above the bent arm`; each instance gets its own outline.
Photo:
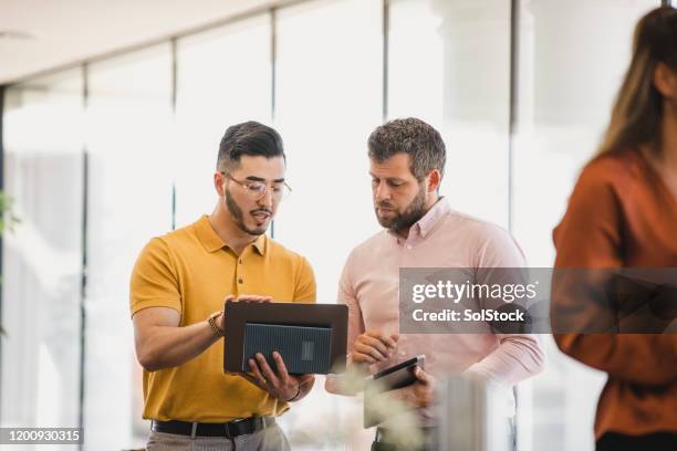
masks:
<path id="1" fill-rule="evenodd" d="M 132 316 L 148 307 L 169 307 L 181 313 L 176 269 L 165 241 L 155 238 L 142 250 L 129 283 Z"/>

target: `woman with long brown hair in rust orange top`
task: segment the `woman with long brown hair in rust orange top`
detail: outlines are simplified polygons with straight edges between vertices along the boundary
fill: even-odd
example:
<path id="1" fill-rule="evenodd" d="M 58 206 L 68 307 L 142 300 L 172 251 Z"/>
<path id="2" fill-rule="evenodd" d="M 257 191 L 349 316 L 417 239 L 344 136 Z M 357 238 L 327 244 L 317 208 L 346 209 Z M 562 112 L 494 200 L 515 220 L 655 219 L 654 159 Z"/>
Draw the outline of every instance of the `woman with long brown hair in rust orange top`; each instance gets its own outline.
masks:
<path id="1" fill-rule="evenodd" d="M 554 242 L 558 269 L 677 268 L 674 8 L 655 9 L 637 24 L 600 155 L 581 174 Z M 572 306 L 564 302 L 576 301 L 553 296 L 553 315 Z M 553 331 L 554 324 L 553 316 Z M 677 334 L 617 331 L 555 335 L 564 353 L 608 374 L 595 420 L 597 450 L 675 451 Z"/>

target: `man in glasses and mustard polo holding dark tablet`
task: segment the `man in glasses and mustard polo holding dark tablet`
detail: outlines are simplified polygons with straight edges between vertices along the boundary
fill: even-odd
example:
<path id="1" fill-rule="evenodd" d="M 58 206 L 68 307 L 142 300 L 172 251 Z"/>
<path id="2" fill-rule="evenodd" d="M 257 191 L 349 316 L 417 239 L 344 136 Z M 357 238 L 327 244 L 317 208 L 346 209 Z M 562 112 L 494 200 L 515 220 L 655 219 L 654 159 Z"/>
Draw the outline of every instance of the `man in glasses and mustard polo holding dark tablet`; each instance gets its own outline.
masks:
<path id="1" fill-rule="evenodd" d="M 223 300 L 314 302 L 308 261 L 264 232 L 289 186 L 280 135 L 248 122 L 219 146 L 210 216 L 155 238 L 132 274 L 136 355 L 144 367 L 147 449 L 288 450 L 274 417 L 312 388 L 263 356 L 251 374 L 223 374 Z"/>

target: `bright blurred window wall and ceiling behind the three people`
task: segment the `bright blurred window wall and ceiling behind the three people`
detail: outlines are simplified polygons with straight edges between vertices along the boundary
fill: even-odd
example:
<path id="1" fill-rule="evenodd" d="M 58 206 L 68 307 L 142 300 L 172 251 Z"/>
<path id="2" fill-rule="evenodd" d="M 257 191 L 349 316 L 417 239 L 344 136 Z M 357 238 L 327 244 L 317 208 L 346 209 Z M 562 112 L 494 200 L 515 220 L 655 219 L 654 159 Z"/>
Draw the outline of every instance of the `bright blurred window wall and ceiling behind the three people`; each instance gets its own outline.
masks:
<path id="1" fill-rule="evenodd" d="M 633 28 L 662 1 L 106 3 L 0 0 L 11 28 L 0 53 L 14 59 L 0 67 L 0 181 L 21 219 L 2 235 L 0 426 L 81 424 L 85 450 L 145 442 L 129 272 L 150 237 L 211 212 L 228 125 L 281 132 L 293 195 L 272 233 L 309 258 L 319 302 L 335 302 L 348 251 L 378 230 L 366 137 L 394 117 L 442 133 L 441 191 L 455 208 L 509 229 L 531 266 L 550 266 L 551 231 L 596 149 Z M 17 73 L 41 33 L 40 20 L 21 30 L 27 8 L 52 25 L 70 14 L 66 35 L 79 21 L 107 35 L 157 27 Z M 519 449 L 592 450 L 605 377 L 543 339 L 548 369 L 519 387 Z M 299 449 L 346 449 L 361 410 L 322 386 L 284 428 Z"/>

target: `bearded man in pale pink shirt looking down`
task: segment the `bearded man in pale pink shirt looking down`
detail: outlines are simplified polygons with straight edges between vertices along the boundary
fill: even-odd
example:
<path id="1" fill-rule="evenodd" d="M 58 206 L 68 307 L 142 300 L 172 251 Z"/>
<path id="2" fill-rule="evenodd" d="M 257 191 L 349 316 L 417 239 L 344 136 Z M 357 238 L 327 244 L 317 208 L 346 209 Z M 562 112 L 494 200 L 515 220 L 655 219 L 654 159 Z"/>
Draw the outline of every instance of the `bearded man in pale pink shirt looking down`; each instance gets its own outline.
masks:
<path id="1" fill-rule="evenodd" d="M 450 208 L 439 196 L 446 150 L 439 133 L 416 118 L 377 127 L 368 139 L 376 219 L 385 228 L 355 248 L 345 263 L 338 302 L 348 306 L 348 361 L 375 373 L 425 354 L 417 382 L 397 397 L 416 407 L 434 449 L 436 380 L 465 374 L 504 386 L 539 373 L 544 355 L 524 334 L 400 334 L 402 268 L 520 268 L 524 255 L 503 229 Z M 326 389 L 341 392 L 336 378 Z M 372 449 L 388 450 L 387 423 Z"/>

